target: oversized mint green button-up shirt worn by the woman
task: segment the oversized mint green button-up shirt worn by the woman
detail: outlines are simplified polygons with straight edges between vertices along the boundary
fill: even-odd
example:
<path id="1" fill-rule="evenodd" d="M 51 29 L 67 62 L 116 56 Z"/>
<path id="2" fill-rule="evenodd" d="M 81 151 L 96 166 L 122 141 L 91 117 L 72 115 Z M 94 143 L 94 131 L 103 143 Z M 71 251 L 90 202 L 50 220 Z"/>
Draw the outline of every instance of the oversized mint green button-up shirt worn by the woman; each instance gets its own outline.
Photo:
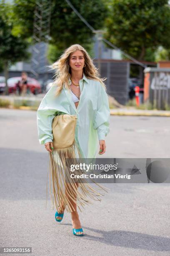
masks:
<path id="1" fill-rule="evenodd" d="M 105 140 L 110 131 L 108 96 L 99 81 L 88 79 L 84 73 L 79 84 L 81 94 L 77 109 L 65 85 L 59 96 L 55 96 L 57 86 L 53 85 L 43 97 L 37 110 L 38 140 L 40 144 L 52 142 L 52 120 L 55 115 L 75 115 L 77 112 L 75 141 L 83 158 L 95 158 L 99 140 Z"/>

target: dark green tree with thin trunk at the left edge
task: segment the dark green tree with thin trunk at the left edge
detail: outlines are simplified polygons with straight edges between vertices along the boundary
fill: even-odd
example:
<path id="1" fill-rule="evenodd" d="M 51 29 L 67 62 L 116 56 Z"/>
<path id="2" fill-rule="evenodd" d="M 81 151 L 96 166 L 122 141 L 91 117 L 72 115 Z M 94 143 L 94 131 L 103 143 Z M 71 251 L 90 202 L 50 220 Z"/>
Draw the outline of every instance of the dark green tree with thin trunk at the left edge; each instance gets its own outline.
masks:
<path id="1" fill-rule="evenodd" d="M 28 59 L 28 42 L 13 36 L 13 20 L 11 18 L 12 7 L 0 4 L 0 63 L 2 63 L 5 74 L 5 94 L 8 94 L 7 78 L 8 68 L 17 61 Z"/>

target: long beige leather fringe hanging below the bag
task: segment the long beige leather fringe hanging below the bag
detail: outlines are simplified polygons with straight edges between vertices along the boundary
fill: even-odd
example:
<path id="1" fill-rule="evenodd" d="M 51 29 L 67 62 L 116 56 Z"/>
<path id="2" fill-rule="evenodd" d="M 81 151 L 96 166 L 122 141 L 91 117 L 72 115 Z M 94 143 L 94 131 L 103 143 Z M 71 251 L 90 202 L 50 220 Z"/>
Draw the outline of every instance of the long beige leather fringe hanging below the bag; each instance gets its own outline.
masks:
<path id="1" fill-rule="evenodd" d="M 82 170 L 75 170 L 74 172 L 71 172 L 69 168 L 70 164 L 79 164 L 78 159 L 81 157 L 79 148 L 75 141 L 70 147 L 54 148 L 53 152 L 49 152 L 48 156 L 50 199 L 53 209 L 55 206 L 56 210 L 60 211 L 63 205 L 65 207 L 65 210 L 71 213 L 72 211 L 75 211 L 72 203 L 70 202 L 71 200 L 72 202 L 76 203 L 77 207 L 81 212 L 81 207 L 84 208 L 85 205 L 91 204 L 92 200 L 101 201 L 101 199 L 98 197 L 104 196 L 105 194 L 101 193 L 100 190 L 102 190 L 102 192 L 103 190 L 105 192 L 108 192 L 107 190 L 110 190 L 103 187 L 101 184 L 93 181 L 92 179 L 90 180 L 95 183 L 99 188 L 97 187 L 96 189 L 94 189 L 83 178 L 72 179 L 70 177 L 71 173 L 74 173 L 75 175 L 80 175 L 83 173 Z M 66 158 L 68 158 L 67 161 L 69 161 L 69 166 L 67 166 L 66 164 Z M 89 200 L 87 198 L 88 196 L 92 200 Z"/>

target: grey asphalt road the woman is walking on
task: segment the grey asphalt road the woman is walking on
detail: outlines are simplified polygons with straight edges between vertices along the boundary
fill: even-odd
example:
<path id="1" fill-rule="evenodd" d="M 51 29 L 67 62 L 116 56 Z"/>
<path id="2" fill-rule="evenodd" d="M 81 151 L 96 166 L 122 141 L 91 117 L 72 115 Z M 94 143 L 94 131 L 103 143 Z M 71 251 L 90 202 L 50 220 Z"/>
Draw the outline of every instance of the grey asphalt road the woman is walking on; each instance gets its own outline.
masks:
<path id="1" fill-rule="evenodd" d="M 79 212 L 85 236 L 76 237 L 70 214 L 55 221 L 49 195 L 45 210 L 48 153 L 36 112 L 1 108 L 0 131 L 1 247 L 32 247 L 34 256 L 170 255 L 169 184 L 104 184 L 110 192 Z M 111 116 L 100 157 L 170 158 L 169 135 L 168 117 Z"/>

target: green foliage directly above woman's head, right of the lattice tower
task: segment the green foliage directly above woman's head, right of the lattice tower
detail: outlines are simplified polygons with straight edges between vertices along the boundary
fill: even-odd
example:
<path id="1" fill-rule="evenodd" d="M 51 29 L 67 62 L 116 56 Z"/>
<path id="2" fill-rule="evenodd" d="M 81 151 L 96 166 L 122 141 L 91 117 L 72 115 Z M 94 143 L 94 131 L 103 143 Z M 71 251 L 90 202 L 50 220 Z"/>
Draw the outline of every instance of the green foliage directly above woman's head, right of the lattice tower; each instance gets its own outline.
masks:
<path id="1" fill-rule="evenodd" d="M 95 29 L 103 27 L 107 9 L 102 0 L 72 0 L 72 5 Z M 80 20 L 65 1 L 53 1 L 51 36 L 59 49 L 71 44 L 91 44 L 94 33 Z"/>

